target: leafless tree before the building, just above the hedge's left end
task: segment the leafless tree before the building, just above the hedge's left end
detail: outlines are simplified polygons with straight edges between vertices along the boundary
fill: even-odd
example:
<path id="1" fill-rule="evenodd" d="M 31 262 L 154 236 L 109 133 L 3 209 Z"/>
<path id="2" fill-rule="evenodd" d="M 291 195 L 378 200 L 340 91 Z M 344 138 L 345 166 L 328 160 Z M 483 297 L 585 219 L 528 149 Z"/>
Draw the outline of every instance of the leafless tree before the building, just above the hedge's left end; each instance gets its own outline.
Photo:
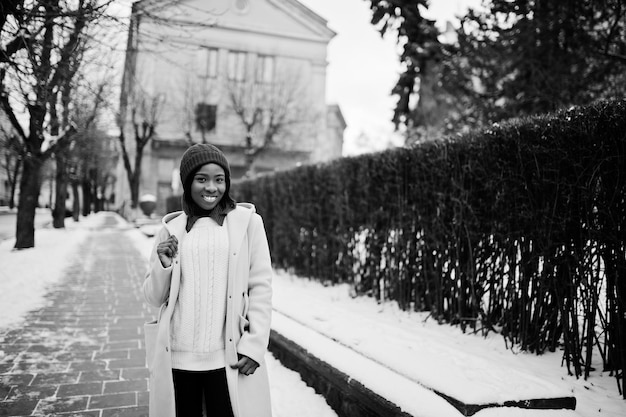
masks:
<path id="1" fill-rule="evenodd" d="M 258 155 L 272 146 L 279 135 L 309 125 L 319 117 L 295 69 L 285 70 L 270 82 L 254 78 L 229 80 L 226 90 L 230 108 L 246 132 L 247 175 L 252 174 Z"/>

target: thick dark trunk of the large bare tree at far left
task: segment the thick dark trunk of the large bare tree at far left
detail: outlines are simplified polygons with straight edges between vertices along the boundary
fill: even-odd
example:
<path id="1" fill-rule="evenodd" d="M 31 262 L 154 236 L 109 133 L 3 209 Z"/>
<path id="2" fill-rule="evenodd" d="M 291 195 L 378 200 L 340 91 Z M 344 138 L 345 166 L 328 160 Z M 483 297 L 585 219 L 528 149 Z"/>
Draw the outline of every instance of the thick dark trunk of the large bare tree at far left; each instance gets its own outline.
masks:
<path id="1" fill-rule="evenodd" d="M 15 230 L 15 249 L 35 247 L 35 210 L 41 189 L 43 161 L 37 156 L 26 157 L 20 180 L 20 198 Z"/>

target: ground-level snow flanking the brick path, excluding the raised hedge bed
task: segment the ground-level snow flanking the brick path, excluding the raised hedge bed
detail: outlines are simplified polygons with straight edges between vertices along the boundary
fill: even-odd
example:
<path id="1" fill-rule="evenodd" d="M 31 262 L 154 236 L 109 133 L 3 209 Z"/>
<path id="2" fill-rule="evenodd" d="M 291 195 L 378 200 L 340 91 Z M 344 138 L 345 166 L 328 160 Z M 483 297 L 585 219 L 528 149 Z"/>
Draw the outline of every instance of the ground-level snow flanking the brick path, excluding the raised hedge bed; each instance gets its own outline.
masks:
<path id="1" fill-rule="evenodd" d="M 104 214 L 93 214 L 74 223 L 66 219 L 65 230 L 41 229 L 35 232 L 35 248 L 12 250 L 15 239 L 0 241 L 0 331 L 17 327 L 29 311 L 43 307 L 44 295 L 59 282 L 63 270 L 73 261 L 76 249 L 90 230 L 97 228 Z M 123 223 L 120 226 L 128 229 Z M 149 239 L 136 229 L 127 230 L 143 249 Z M 62 244 L 60 244 L 62 242 Z M 149 250 L 149 249 L 148 249 Z M 0 350 L 0 357 L 4 352 Z M 271 378 L 275 417 L 337 417 L 324 397 L 308 387 L 297 372 L 285 368 L 271 354 L 266 357 Z M 2 415 L 0 410 L 0 415 Z"/>

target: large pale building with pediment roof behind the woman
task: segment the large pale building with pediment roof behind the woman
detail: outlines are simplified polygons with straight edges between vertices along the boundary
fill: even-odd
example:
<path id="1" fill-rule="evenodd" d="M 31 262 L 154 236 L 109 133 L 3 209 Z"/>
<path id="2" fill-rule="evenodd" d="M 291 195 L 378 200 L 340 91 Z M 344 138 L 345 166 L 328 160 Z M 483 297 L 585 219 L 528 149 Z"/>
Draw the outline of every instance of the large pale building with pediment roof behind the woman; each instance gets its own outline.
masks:
<path id="1" fill-rule="evenodd" d="M 296 0 L 134 3 L 120 112 L 131 155 L 135 134 L 154 128 L 140 196 L 165 213 L 193 142 L 220 147 L 235 180 L 340 157 L 346 124 L 325 93 L 334 35 Z M 128 200 L 122 164 L 117 178 L 118 201 Z"/>

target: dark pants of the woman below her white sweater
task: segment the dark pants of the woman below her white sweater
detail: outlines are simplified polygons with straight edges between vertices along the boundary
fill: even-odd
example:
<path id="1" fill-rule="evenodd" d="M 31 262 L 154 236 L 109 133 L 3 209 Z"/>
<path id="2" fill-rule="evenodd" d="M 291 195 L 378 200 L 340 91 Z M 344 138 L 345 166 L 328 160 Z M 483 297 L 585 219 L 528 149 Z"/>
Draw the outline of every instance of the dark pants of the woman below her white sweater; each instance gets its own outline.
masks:
<path id="1" fill-rule="evenodd" d="M 208 417 L 233 417 L 226 371 L 182 371 L 174 369 L 174 395 L 178 417 L 202 417 L 202 398 Z"/>

